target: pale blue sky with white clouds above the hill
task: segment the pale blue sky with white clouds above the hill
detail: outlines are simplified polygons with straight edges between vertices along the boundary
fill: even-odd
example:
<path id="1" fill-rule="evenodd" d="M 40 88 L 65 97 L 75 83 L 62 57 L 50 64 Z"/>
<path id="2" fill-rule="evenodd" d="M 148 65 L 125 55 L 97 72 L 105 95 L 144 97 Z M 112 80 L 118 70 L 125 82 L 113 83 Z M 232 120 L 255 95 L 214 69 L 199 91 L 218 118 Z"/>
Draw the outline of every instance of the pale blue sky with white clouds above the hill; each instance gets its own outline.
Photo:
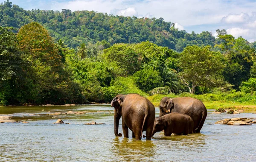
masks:
<path id="1" fill-rule="evenodd" d="M 235 38 L 256 41 L 256 0 L 9 0 L 26 10 L 88 10 L 113 15 L 162 17 L 175 28 L 195 31 L 226 29 Z"/>

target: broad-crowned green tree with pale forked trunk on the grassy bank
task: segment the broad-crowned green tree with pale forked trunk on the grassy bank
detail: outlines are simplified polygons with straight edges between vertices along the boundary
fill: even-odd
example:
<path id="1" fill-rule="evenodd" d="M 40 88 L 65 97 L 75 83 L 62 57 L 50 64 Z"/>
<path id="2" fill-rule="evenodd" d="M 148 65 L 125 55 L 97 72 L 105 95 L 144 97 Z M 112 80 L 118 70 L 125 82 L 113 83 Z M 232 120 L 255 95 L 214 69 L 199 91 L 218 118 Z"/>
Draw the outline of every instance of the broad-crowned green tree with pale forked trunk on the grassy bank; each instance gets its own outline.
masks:
<path id="1" fill-rule="evenodd" d="M 221 57 L 220 53 L 211 51 L 210 46 L 188 46 L 182 51 L 178 75 L 191 94 L 195 93 L 195 87 L 215 87 L 223 83 Z"/>

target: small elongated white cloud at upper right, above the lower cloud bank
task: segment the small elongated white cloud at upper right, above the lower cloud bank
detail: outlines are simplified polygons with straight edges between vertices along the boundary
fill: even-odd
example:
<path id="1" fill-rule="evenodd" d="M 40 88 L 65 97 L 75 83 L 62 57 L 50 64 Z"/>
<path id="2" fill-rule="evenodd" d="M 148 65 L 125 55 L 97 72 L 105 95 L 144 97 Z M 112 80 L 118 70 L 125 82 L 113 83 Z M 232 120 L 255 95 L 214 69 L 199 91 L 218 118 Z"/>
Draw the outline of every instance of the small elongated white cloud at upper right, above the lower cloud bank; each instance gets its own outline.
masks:
<path id="1" fill-rule="evenodd" d="M 242 23 L 249 20 L 250 17 L 247 13 L 241 13 L 241 14 L 229 14 L 226 17 L 222 18 L 222 22 L 231 24 L 231 23 Z"/>

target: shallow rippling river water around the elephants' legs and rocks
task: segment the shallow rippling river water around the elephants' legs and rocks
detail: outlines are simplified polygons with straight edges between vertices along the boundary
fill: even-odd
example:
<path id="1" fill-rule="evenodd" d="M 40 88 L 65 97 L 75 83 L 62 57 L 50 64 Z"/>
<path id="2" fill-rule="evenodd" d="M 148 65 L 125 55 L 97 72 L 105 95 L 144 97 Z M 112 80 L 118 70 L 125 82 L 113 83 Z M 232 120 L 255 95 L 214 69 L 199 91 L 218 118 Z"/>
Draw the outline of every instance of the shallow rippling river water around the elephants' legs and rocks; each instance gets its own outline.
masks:
<path id="1" fill-rule="evenodd" d="M 42 111 L 44 109 L 44 111 Z M 86 112 L 47 115 L 48 112 Z M 115 137 L 110 105 L 12 106 L 0 107 L 0 116 L 28 123 L 0 123 L 0 162 L 13 161 L 204 161 L 255 162 L 256 124 L 228 126 L 214 124 L 232 117 L 249 117 L 244 112 L 211 114 L 201 133 L 164 137 L 157 132 L 151 140 Z M 159 109 L 156 108 L 156 116 Z M 53 124 L 61 119 L 64 123 Z M 84 123 L 105 125 L 84 125 Z M 122 121 L 119 132 L 122 133 Z M 145 134 L 145 132 L 143 132 Z"/>

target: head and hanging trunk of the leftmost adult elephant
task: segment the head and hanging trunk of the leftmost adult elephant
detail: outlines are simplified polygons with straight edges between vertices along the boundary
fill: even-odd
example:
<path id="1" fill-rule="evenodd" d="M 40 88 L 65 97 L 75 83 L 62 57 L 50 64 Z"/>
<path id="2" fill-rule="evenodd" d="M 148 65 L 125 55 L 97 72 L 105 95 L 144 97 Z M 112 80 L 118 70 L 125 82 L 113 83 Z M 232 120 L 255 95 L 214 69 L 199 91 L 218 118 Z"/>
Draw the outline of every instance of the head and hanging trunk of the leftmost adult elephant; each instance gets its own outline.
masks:
<path id="1" fill-rule="evenodd" d="M 123 103 L 123 95 L 116 95 L 116 97 L 114 97 L 113 100 L 111 101 L 111 107 L 115 108 L 114 132 L 116 136 L 122 136 L 122 133 L 118 133 L 119 120 L 122 117 L 122 103 Z"/>

